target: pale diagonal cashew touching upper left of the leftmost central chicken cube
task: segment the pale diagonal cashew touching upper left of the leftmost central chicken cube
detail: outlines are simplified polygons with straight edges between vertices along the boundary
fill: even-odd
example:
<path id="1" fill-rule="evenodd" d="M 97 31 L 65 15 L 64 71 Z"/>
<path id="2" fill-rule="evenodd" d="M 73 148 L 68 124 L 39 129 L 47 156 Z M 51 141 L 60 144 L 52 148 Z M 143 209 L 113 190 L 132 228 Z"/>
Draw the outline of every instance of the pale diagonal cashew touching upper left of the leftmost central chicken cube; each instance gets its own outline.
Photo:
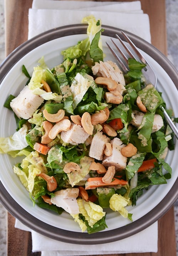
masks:
<path id="1" fill-rule="evenodd" d="M 58 123 L 56 123 L 53 128 L 49 131 L 49 138 L 50 139 L 55 139 L 56 136 L 58 135 L 58 133 L 62 132 L 62 131 L 67 131 L 70 129 L 70 120 L 69 119 L 63 119 L 61 121 L 59 121 Z"/>

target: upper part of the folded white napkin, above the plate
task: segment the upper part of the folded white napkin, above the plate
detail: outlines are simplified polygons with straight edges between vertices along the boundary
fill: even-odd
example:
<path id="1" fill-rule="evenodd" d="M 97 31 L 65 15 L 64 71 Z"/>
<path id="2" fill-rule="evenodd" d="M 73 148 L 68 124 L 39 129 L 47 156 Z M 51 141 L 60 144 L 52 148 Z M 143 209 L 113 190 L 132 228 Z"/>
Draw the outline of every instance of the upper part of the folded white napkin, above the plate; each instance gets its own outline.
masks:
<path id="1" fill-rule="evenodd" d="M 101 19 L 103 25 L 121 28 L 151 42 L 149 17 L 143 14 L 140 1 L 33 0 L 28 14 L 28 39 L 55 27 L 80 24 L 90 14 Z"/>

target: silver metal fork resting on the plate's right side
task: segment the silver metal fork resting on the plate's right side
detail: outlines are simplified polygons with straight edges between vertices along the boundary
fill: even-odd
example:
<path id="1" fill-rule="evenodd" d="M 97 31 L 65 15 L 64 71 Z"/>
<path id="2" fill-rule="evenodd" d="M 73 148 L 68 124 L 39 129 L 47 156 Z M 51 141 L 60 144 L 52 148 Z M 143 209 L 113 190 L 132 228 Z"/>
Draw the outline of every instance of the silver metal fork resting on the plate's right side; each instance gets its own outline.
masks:
<path id="1" fill-rule="evenodd" d="M 152 67 L 147 62 L 146 58 L 142 55 L 142 53 L 137 49 L 137 47 L 134 45 L 134 43 L 130 40 L 130 38 L 123 31 L 121 31 L 121 33 L 125 37 L 126 41 L 129 43 L 129 45 L 132 47 L 133 51 L 136 53 L 136 55 L 138 57 L 138 60 L 132 54 L 132 52 L 126 46 L 126 44 L 121 40 L 121 38 L 118 35 L 116 35 L 117 39 L 119 39 L 119 41 L 121 42 L 122 46 L 125 48 L 126 52 L 129 54 L 129 56 L 131 58 L 136 59 L 137 61 L 141 61 L 142 63 L 146 64 L 146 68 L 143 68 L 143 70 L 142 70 L 143 75 L 145 76 L 145 79 L 146 79 L 146 81 L 145 81 L 146 85 L 149 84 L 149 83 L 152 83 L 152 85 L 155 86 L 155 88 L 156 88 L 157 77 L 156 77 L 156 74 L 153 71 Z M 112 38 L 111 38 L 111 41 L 115 45 L 116 49 L 120 52 L 122 58 L 124 58 L 124 60 L 128 64 L 128 58 L 125 55 L 125 53 L 121 50 L 121 48 L 117 45 L 117 43 Z M 127 73 L 129 71 L 129 67 L 124 64 L 124 62 L 121 60 L 121 58 L 119 57 L 117 52 L 109 45 L 108 42 L 106 42 L 106 45 L 109 47 L 110 51 L 112 52 L 112 54 L 114 55 L 116 60 L 119 62 L 119 65 L 122 68 L 122 71 L 124 73 Z M 175 124 L 173 123 L 172 119 L 169 117 L 169 115 L 167 114 L 166 110 L 162 106 L 161 106 L 161 109 L 162 109 L 164 118 L 166 119 L 167 123 L 169 124 L 170 128 L 172 129 L 172 131 L 174 132 L 174 134 L 176 135 L 176 137 L 178 139 L 178 129 L 177 129 L 177 127 L 175 126 Z"/>

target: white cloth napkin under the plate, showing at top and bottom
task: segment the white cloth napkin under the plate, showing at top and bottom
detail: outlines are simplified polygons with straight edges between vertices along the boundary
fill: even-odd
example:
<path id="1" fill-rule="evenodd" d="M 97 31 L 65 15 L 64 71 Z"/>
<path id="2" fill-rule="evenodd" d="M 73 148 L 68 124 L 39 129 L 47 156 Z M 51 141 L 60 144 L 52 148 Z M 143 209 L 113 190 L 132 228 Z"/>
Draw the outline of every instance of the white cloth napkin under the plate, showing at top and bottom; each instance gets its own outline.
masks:
<path id="1" fill-rule="evenodd" d="M 103 25 L 118 27 L 151 42 L 149 18 L 147 14 L 143 14 L 140 1 L 94 2 L 72 0 L 69 2 L 33 0 L 28 15 L 28 39 L 55 27 L 80 24 L 83 17 L 90 14 L 93 14 L 96 19 L 101 19 Z M 49 239 L 30 230 L 19 220 L 16 220 L 15 227 L 31 231 L 32 251 L 41 251 L 42 256 L 157 252 L 157 222 L 136 235 L 101 245 L 68 244 Z"/>

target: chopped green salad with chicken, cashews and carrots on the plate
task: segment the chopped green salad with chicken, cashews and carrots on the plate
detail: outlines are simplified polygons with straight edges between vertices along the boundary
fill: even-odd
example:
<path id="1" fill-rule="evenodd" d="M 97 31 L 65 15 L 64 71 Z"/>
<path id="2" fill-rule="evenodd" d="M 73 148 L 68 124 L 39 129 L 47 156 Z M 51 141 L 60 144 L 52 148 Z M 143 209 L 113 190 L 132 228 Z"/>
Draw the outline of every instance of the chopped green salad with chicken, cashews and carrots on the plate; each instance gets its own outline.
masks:
<path id="1" fill-rule="evenodd" d="M 132 221 L 126 206 L 167 183 L 174 135 L 161 93 L 145 85 L 145 65 L 129 59 L 124 75 L 104 61 L 101 21 L 83 22 L 88 37 L 63 50 L 62 63 L 49 68 L 42 57 L 32 76 L 22 67 L 28 81 L 4 104 L 17 129 L 0 138 L 0 153 L 23 158 L 13 170 L 33 204 L 68 212 L 91 234 L 107 228 L 107 208 Z"/>

